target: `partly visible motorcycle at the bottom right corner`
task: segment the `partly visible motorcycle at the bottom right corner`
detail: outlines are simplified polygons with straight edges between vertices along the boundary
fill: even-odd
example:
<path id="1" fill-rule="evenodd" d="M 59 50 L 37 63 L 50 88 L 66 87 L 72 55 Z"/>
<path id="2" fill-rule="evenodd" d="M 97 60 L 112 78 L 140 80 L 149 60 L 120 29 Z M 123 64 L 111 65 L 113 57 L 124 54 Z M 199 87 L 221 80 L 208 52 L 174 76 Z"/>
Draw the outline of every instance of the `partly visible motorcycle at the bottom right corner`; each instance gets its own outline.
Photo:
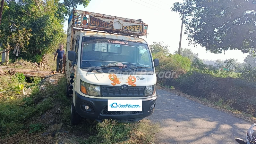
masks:
<path id="1" fill-rule="evenodd" d="M 235 138 L 235 141 L 239 144 L 256 144 L 256 130 L 253 129 L 256 124 L 252 124 L 246 133 L 246 142 L 243 139 Z M 255 127 L 256 128 L 256 127 Z"/>

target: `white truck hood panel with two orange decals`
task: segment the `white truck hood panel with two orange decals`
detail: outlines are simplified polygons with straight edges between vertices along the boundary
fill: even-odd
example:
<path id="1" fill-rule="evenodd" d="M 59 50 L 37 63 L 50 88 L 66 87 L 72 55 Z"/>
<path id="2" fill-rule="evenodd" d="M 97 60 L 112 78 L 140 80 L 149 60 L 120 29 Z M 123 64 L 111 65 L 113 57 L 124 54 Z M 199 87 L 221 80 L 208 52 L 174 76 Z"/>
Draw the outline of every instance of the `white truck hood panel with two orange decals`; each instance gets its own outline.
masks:
<path id="1" fill-rule="evenodd" d="M 78 75 L 79 74 L 79 75 Z M 148 86 L 157 82 L 156 74 L 153 75 L 124 75 L 124 74 L 108 74 L 95 73 L 77 69 L 77 78 L 89 84 L 121 86 Z"/>

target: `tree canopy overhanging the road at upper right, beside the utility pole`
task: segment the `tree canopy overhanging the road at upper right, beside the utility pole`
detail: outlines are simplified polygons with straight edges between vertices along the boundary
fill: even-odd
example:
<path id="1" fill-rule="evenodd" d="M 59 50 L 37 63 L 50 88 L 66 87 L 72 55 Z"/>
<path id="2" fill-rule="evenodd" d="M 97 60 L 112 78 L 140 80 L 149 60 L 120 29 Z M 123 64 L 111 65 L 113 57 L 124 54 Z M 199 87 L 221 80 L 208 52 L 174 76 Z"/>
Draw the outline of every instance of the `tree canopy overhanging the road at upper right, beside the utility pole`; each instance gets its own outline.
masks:
<path id="1" fill-rule="evenodd" d="M 256 0 L 183 0 L 171 9 L 184 17 L 190 44 L 256 54 Z"/>

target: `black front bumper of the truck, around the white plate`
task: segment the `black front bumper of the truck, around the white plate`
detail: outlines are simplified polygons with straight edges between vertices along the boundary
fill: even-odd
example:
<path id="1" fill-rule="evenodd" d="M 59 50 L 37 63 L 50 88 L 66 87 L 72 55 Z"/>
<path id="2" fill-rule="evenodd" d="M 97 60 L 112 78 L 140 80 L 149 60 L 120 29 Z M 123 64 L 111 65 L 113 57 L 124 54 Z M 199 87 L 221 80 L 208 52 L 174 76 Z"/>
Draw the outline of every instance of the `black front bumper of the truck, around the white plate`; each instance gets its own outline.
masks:
<path id="1" fill-rule="evenodd" d="M 142 99 L 142 111 L 107 111 L 107 99 L 84 97 L 75 92 L 75 108 L 81 117 L 96 119 L 99 122 L 103 119 L 113 119 L 118 122 L 132 122 L 152 115 L 155 108 L 151 109 L 150 106 L 156 104 L 156 99 L 156 96 Z M 84 109 L 86 105 L 89 106 L 88 110 Z"/>

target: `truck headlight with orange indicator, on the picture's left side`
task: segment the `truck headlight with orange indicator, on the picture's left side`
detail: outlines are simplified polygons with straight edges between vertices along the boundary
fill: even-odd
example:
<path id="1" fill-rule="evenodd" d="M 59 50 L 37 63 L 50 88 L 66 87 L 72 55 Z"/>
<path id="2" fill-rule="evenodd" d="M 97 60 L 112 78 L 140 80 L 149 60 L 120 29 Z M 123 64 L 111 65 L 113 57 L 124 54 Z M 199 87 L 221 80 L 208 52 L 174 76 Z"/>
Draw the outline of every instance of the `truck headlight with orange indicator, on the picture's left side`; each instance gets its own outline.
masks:
<path id="1" fill-rule="evenodd" d="M 86 95 L 100 96 L 100 86 L 88 84 L 80 80 L 80 91 Z"/>

